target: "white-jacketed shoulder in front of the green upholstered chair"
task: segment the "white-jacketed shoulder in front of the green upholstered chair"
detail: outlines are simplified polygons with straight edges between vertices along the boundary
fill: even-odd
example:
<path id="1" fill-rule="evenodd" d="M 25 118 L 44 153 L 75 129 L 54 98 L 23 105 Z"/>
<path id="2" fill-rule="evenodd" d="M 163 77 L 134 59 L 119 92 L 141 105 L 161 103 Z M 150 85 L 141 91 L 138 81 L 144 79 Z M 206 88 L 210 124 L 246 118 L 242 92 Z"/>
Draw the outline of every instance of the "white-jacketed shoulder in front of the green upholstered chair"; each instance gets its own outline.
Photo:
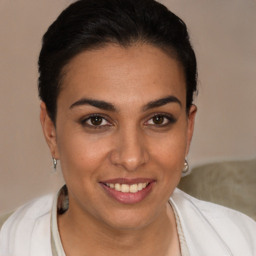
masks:
<path id="1" fill-rule="evenodd" d="M 214 246 L 212 254 L 207 255 L 218 255 L 216 251 L 222 255 L 256 254 L 253 219 L 236 210 L 198 200 L 179 189 L 174 190 L 170 200 L 191 250 L 202 254 L 204 249 L 209 251 Z M 199 246 L 195 248 L 197 243 Z"/>

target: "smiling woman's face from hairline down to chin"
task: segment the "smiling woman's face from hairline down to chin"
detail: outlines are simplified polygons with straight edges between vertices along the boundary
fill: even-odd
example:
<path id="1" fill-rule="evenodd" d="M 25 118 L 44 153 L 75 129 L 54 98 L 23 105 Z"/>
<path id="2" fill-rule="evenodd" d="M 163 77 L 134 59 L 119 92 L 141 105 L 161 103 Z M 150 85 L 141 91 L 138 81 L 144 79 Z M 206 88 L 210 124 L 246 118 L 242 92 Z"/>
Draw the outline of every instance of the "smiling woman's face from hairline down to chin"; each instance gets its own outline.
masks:
<path id="1" fill-rule="evenodd" d="M 110 45 L 72 59 L 62 88 L 56 130 L 48 121 L 44 133 L 60 159 L 69 213 L 116 229 L 160 218 L 179 182 L 196 111 L 186 115 L 179 63 L 153 46 Z"/>

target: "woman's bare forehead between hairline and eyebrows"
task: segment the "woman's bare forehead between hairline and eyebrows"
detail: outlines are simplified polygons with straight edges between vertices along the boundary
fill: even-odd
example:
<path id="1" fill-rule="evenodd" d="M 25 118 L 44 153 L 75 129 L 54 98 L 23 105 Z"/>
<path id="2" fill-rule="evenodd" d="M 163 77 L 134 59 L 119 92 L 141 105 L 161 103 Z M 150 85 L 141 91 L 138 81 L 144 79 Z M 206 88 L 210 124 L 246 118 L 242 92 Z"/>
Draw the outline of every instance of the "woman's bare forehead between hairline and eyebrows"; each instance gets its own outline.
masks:
<path id="1" fill-rule="evenodd" d="M 59 100 L 91 97 L 128 104 L 134 98 L 147 101 L 166 95 L 185 101 L 183 68 L 177 60 L 146 44 L 109 45 L 83 51 L 65 66 Z"/>

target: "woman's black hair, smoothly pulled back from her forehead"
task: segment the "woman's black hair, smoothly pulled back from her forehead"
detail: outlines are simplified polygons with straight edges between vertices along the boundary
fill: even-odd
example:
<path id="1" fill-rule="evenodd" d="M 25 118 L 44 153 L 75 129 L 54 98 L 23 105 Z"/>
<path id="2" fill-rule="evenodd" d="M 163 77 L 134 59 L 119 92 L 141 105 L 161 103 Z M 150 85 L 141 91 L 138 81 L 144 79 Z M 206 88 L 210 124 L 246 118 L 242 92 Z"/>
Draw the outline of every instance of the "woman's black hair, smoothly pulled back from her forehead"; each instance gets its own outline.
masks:
<path id="1" fill-rule="evenodd" d="M 42 37 L 38 95 L 55 123 L 63 67 L 84 50 L 107 44 L 156 46 L 177 59 L 186 81 L 186 109 L 197 87 L 194 51 L 185 23 L 155 0 L 78 0 L 64 9 Z"/>

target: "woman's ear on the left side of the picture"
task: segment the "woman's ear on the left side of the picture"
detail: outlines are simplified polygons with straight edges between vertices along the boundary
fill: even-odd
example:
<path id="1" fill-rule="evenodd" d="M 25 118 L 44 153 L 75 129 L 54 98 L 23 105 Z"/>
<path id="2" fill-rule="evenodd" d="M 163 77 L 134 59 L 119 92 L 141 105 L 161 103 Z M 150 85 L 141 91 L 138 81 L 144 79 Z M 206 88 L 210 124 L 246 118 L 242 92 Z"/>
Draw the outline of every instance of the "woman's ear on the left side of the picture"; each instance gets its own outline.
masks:
<path id="1" fill-rule="evenodd" d="M 42 131 L 44 134 L 44 138 L 50 148 L 51 156 L 55 159 L 59 159 L 57 140 L 56 140 L 56 129 L 55 126 L 50 119 L 46 105 L 44 102 L 40 104 L 40 121 L 42 125 Z"/>

